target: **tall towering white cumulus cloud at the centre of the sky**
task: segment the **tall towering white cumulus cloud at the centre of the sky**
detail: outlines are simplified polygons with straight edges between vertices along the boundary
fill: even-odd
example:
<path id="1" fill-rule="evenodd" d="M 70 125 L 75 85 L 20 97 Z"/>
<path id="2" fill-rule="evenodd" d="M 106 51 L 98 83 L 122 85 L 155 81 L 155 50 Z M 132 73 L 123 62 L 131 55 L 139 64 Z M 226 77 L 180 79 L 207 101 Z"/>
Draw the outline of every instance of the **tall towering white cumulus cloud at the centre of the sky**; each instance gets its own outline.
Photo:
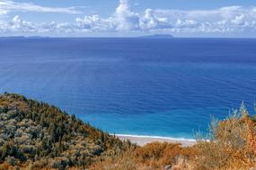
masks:
<path id="1" fill-rule="evenodd" d="M 146 9 L 142 15 L 132 12 L 128 0 L 120 0 L 113 16 L 101 19 L 99 15 L 85 16 L 84 19 L 77 18 L 80 26 L 91 30 L 110 31 L 147 31 L 154 29 L 168 29 L 170 23 L 167 18 L 157 17 L 154 10 Z"/>

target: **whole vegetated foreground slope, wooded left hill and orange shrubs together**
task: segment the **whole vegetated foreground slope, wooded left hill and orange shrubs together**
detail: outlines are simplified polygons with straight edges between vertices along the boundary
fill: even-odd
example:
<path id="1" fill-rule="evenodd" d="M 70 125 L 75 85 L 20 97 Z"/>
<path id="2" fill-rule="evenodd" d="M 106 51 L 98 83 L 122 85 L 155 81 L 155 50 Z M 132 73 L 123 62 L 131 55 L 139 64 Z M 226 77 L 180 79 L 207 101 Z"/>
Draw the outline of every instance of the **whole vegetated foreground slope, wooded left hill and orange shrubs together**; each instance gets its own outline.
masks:
<path id="1" fill-rule="evenodd" d="M 17 94 L 0 95 L 0 170 L 227 170 L 256 168 L 256 121 L 245 106 L 192 147 L 154 142 L 132 145 Z"/>

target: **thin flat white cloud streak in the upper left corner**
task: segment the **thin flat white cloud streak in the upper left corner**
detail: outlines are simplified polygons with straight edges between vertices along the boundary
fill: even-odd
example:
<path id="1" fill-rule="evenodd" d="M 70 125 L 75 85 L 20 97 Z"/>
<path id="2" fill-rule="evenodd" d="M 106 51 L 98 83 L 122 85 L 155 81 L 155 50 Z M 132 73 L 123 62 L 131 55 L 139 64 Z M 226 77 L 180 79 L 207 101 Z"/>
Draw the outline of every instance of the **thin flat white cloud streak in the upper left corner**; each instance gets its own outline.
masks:
<path id="1" fill-rule="evenodd" d="M 54 8 L 45 7 L 37 4 L 16 3 L 9 0 L 0 0 L 0 14 L 13 12 L 37 12 L 37 13 L 80 13 L 75 7 Z"/>

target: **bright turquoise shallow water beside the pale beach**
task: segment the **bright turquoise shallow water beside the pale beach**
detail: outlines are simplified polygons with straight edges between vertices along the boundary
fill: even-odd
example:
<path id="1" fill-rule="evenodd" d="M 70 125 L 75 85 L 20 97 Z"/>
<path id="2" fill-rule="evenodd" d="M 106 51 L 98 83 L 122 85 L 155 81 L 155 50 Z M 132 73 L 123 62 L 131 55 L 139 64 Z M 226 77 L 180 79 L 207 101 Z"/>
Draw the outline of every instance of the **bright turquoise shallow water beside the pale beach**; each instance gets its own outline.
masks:
<path id="1" fill-rule="evenodd" d="M 206 111 L 207 113 L 216 113 L 219 112 L 219 110 L 220 109 L 217 108 L 208 108 L 204 110 L 172 110 L 152 115 L 120 116 L 103 114 L 99 116 L 85 115 L 82 117 L 84 121 L 92 122 L 96 127 L 104 127 L 104 130 L 117 134 L 138 134 L 142 136 L 171 137 L 174 139 L 193 139 L 193 135 L 196 132 L 204 130 L 203 128 L 205 128 L 205 124 L 195 123 L 190 117 L 193 117 L 194 119 L 210 120 L 209 115 L 205 114 Z M 225 115 L 225 113 L 223 114 Z M 177 121 L 173 122 L 173 119 Z M 104 124 L 102 125 L 102 123 Z M 182 124 L 194 128 L 188 129 Z M 167 129 L 168 131 L 166 131 Z"/>

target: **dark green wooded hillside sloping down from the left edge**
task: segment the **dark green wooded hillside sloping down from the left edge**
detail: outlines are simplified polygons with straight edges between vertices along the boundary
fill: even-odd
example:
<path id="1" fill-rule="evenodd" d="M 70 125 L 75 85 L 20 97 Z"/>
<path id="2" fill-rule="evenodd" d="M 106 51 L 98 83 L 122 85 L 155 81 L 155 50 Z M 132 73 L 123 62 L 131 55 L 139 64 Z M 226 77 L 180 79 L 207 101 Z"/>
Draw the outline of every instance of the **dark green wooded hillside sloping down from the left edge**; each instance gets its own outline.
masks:
<path id="1" fill-rule="evenodd" d="M 16 94 L 0 95 L 0 164 L 65 169 L 133 148 L 62 112 Z"/>

